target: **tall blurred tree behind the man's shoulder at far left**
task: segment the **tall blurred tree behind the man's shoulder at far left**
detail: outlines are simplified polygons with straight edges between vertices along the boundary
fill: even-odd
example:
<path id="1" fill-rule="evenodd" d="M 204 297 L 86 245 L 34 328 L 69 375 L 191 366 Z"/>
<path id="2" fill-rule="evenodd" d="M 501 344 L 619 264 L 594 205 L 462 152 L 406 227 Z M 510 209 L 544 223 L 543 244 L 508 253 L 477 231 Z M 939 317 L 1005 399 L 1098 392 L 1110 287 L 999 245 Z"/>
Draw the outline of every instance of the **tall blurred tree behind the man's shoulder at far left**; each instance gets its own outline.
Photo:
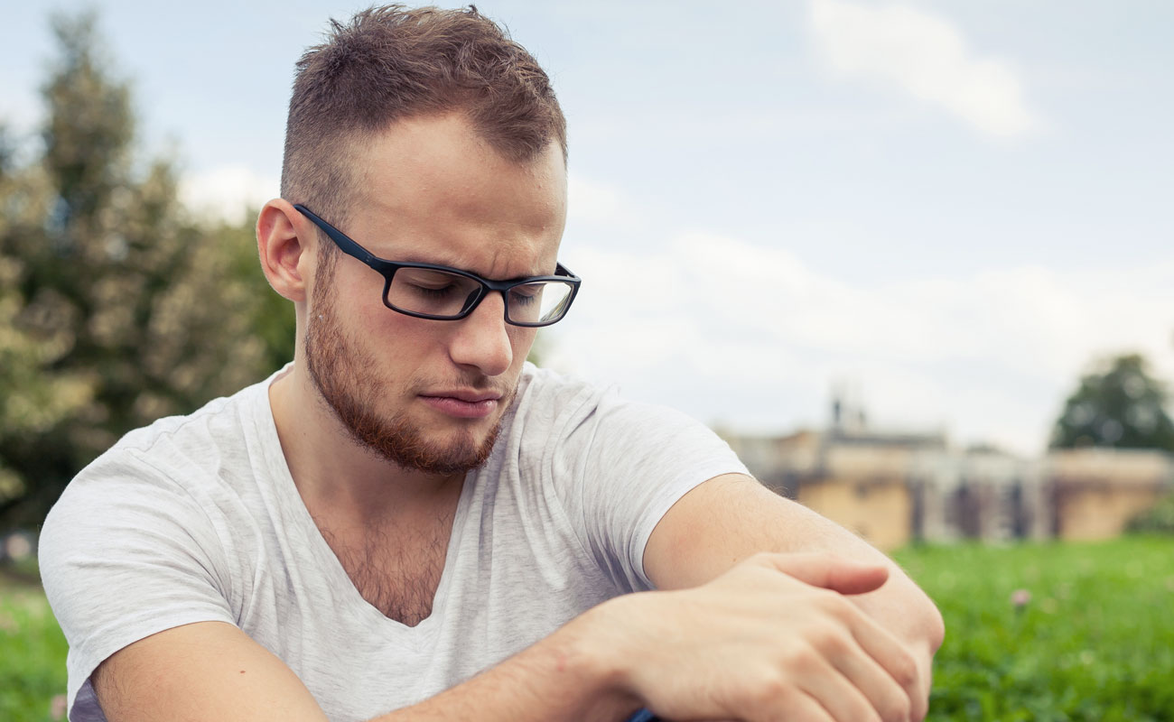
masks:
<path id="1" fill-rule="evenodd" d="M 38 524 L 127 431 L 292 355 L 251 230 L 195 224 L 173 163 L 136 160 L 130 87 L 94 16 L 53 29 L 40 151 L 19 162 L 0 129 L 0 527 Z"/>

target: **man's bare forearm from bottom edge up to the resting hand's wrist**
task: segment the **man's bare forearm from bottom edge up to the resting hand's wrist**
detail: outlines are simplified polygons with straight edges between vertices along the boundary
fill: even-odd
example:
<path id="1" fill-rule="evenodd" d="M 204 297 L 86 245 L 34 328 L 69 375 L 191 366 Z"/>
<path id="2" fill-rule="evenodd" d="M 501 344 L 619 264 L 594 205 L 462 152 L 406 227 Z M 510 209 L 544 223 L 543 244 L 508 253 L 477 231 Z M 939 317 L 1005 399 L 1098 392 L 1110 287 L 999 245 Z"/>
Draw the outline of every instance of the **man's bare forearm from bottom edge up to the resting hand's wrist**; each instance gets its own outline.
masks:
<path id="1" fill-rule="evenodd" d="M 477 676 L 372 722 L 484 720 L 618 722 L 641 704 L 618 684 L 616 662 L 598 640 L 595 610 Z"/>

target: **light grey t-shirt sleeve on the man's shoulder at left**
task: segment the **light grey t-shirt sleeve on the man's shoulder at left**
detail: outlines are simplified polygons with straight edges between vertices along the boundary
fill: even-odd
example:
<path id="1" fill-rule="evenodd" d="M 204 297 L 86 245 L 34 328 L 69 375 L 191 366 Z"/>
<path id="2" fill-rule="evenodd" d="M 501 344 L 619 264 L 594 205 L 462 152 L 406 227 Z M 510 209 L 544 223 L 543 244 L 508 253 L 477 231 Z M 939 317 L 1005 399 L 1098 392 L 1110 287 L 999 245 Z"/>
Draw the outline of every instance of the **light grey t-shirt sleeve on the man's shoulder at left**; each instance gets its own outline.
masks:
<path id="1" fill-rule="evenodd" d="M 108 452 L 66 488 L 41 531 L 45 592 L 69 642 L 68 701 L 119 649 L 200 621 L 235 623 L 230 574 L 207 514 L 133 451 Z M 81 706 L 92 708 L 90 706 Z"/>

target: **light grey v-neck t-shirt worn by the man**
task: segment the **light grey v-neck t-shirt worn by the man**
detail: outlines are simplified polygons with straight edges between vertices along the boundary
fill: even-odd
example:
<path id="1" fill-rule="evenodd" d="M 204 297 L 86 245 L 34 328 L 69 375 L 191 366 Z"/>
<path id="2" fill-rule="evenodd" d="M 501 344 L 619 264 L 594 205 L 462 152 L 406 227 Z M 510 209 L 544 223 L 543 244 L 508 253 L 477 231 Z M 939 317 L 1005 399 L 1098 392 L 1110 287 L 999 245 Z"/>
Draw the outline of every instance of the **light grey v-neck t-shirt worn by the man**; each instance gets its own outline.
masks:
<path id="1" fill-rule="evenodd" d="M 87 466 L 40 542 L 69 641 L 69 718 L 104 720 L 89 676 L 197 621 L 238 626 L 331 720 L 412 704 L 586 609 L 649 589 L 643 551 L 697 484 L 745 473 L 697 421 L 527 364 L 488 461 L 465 479 L 432 614 L 387 619 L 310 518 L 277 439 L 269 380 L 127 434 Z"/>

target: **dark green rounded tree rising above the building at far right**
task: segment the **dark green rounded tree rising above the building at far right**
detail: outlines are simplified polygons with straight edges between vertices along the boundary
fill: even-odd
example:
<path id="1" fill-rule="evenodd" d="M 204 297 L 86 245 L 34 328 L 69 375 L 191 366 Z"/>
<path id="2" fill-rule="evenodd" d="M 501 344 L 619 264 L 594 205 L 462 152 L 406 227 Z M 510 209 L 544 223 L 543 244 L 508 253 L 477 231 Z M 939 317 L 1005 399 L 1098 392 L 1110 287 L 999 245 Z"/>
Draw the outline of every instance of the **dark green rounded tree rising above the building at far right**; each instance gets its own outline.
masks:
<path id="1" fill-rule="evenodd" d="M 1174 451 L 1166 386 L 1146 359 L 1128 353 L 1104 359 L 1080 379 L 1052 431 L 1052 447 L 1114 446 Z"/>

